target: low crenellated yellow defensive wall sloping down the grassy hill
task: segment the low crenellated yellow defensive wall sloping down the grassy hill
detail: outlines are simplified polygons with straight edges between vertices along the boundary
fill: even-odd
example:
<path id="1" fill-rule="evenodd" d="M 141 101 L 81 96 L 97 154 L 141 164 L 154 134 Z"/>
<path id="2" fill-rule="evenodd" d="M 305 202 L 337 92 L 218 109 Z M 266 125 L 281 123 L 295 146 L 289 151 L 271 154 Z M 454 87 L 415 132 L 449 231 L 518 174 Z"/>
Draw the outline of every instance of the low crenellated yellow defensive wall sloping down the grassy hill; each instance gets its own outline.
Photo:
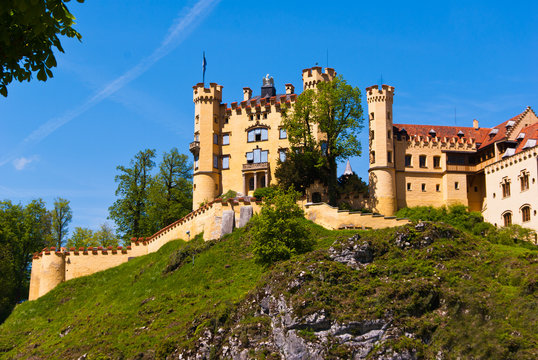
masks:
<path id="1" fill-rule="evenodd" d="M 408 223 L 406 219 L 340 211 L 325 203 L 299 205 L 305 217 L 327 229 L 378 229 Z M 29 300 L 35 300 L 61 282 L 118 266 L 129 259 L 156 252 L 176 239 L 190 239 L 203 232 L 204 240 L 219 239 L 243 227 L 261 203 L 254 198 L 216 199 L 147 238 L 132 238 L 126 247 L 45 248 L 32 261 Z"/>

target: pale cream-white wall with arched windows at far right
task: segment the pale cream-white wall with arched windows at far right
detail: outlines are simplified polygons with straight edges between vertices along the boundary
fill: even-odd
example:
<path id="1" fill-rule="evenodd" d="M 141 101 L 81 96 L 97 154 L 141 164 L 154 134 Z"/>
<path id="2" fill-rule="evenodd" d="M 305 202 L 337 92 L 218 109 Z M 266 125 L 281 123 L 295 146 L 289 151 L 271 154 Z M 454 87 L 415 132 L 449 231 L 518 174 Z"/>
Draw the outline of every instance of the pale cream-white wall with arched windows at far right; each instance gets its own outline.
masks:
<path id="1" fill-rule="evenodd" d="M 512 212 L 512 224 L 538 232 L 538 147 L 527 149 L 484 169 L 486 178 L 486 221 L 504 226 L 503 214 Z M 522 172 L 529 174 L 529 188 L 521 189 Z M 510 181 L 510 196 L 503 197 L 502 182 Z M 523 222 L 522 208 L 530 206 L 530 221 Z"/>

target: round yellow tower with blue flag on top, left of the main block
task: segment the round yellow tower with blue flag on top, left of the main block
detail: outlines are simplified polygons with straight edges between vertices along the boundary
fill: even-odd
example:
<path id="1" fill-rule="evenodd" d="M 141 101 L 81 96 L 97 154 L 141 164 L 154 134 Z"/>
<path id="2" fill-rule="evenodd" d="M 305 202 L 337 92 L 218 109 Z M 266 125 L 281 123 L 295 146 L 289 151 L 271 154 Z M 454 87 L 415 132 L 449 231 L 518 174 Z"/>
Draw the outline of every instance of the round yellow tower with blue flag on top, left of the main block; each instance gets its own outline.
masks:
<path id="1" fill-rule="evenodd" d="M 220 128 L 222 116 L 222 86 L 209 84 L 209 89 L 199 83 L 193 86 L 194 141 L 189 150 L 194 156 L 193 209 L 214 200 L 220 189 Z"/>

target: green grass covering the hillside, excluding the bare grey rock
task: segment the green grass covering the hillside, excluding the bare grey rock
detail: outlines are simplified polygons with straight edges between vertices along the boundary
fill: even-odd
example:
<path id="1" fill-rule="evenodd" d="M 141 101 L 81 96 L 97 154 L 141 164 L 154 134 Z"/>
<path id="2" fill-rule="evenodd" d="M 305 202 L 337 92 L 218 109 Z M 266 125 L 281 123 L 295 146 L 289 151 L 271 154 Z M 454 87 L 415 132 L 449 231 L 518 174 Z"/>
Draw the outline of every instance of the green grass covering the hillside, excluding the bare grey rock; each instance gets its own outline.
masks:
<path id="1" fill-rule="evenodd" d="M 0 358 L 164 358 L 176 347 L 194 348 L 204 329 L 227 322 L 232 327 L 237 316 L 230 315 L 267 283 L 282 284 L 281 293 L 305 313 L 324 308 L 342 320 L 390 313 L 402 329 L 417 334 L 394 346 L 418 348 L 425 358 L 438 350 L 454 358 L 538 356 L 536 247 L 491 244 L 457 232 L 428 246 L 401 248 L 396 231 L 413 243 L 419 236 L 412 226 L 361 231 L 375 257 L 357 271 L 327 256 L 335 241 L 356 231 L 309 227 L 316 249 L 270 269 L 254 263 L 248 234 L 236 230 L 211 247 L 174 241 L 63 283 L 17 306 L 0 325 Z M 207 249 L 193 265 L 188 249 L 196 247 Z M 171 262 L 180 266 L 164 272 L 174 268 Z M 284 284 L 305 271 L 311 282 L 290 293 Z"/>

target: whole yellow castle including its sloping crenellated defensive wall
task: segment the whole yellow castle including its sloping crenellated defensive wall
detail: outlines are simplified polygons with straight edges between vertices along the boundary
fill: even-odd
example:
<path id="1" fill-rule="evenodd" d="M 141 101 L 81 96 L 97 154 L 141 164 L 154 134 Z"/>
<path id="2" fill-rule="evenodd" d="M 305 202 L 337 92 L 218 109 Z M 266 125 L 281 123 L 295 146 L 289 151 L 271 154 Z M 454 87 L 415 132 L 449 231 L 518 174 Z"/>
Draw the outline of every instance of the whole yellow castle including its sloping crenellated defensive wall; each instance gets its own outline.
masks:
<path id="1" fill-rule="evenodd" d="M 334 69 L 303 70 L 303 89 L 336 76 Z M 45 248 L 32 261 L 29 300 L 37 299 L 69 279 L 105 270 L 133 257 L 157 251 L 175 239 L 202 233 L 218 239 L 242 227 L 259 202 L 249 196 L 223 200 L 226 190 L 252 195 L 275 183 L 278 159 L 289 147 L 281 127 L 282 106 L 297 95 L 286 84 L 276 94 L 268 76 L 260 96 L 243 89 L 243 101 L 222 103 L 222 86 L 193 87 L 195 103 L 194 210 L 147 238 L 127 247 Z M 369 121 L 369 207 L 377 214 L 342 211 L 303 199 L 305 217 L 328 229 L 384 228 L 408 223 L 394 213 L 403 207 L 463 204 L 481 211 L 496 226 L 520 224 L 538 231 L 538 118 L 530 107 L 493 128 L 393 123 L 394 88 L 366 88 Z M 320 134 L 313 129 L 316 139 Z M 351 169 L 346 169 L 351 173 Z M 322 192 L 315 183 L 315 191 Z M 364 199 L 361 198 L 361 201 Z M 315 201 L 314 201 L 315 202 Z M 383 214 L 383 215 L 381 215 Z"/>

